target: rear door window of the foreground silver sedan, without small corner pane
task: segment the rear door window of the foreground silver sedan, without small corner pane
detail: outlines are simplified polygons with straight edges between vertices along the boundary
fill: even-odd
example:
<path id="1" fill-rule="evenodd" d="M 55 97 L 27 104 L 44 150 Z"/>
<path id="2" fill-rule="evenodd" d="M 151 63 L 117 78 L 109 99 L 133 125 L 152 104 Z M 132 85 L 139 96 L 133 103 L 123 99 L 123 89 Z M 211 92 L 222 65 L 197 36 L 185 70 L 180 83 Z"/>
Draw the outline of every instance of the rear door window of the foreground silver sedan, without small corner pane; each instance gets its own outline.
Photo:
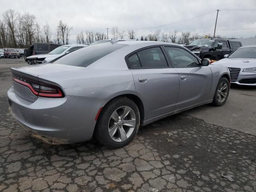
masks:
<path id="1" fill-rule="evenodd" d="M 142 68 L 168 67 L 164 54 L 160 47 L 153 47 L 139 51 L 138 57 Z"/>

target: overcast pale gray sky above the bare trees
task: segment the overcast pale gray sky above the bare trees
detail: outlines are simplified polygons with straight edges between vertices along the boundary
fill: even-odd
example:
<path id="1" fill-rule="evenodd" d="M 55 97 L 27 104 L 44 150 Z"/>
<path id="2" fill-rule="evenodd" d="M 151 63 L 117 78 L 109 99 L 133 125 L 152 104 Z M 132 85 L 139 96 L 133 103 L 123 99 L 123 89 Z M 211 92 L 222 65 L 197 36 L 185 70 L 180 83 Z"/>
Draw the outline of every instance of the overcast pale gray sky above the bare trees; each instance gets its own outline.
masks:
<path id="1" fill-rule="evenodd" d="M 10 8 L 29 12 L 36 16 L 40 26 L 47 21 L 53 33 L 59 20 L 66 22 L 73 27 L 72 43 L 78 32 L 106 32 L 105 28 L 112 26 L 126 31 L 134 29 L 139 39 L 157 29 L 213 34 L 216 9 L 221 10 L 217 35 L 236 38 L 256 35 L 256 0 L 18 0 L 1 1 L 0 6 L 0 20 L 2 13 Z"/>

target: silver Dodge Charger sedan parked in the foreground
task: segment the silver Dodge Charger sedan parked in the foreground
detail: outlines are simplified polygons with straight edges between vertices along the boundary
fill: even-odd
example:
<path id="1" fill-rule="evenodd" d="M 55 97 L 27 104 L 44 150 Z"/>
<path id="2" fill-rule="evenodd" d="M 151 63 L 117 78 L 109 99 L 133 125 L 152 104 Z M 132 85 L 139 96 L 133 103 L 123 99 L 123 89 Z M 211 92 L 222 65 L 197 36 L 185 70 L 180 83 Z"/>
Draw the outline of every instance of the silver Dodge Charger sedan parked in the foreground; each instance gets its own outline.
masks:
<path id="1" fill-rule="evenodd" d="M 52 144 L 90 140 L 128 144 L 146 125 L 229 94 L 226 66 L 210 65 L 183 46 L 112 40 L 48 64 L 11 68 L 12 115 L 32 136 Z"/>

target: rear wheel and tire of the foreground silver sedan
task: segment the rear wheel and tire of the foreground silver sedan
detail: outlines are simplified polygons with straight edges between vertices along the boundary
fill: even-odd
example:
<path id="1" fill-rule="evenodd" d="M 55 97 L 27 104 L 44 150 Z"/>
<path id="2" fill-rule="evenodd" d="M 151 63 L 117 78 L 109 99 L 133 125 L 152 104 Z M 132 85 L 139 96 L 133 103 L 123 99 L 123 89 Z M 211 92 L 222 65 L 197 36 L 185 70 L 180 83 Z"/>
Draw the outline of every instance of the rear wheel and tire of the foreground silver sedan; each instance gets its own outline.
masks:
<path id="1" fill-rule="evenodd" d="M 126 146 L 138 132 L 138 106 L 126 97 L 110 101 L 102 109 L 94 134 L 101 144 L 110 148 Z"/>

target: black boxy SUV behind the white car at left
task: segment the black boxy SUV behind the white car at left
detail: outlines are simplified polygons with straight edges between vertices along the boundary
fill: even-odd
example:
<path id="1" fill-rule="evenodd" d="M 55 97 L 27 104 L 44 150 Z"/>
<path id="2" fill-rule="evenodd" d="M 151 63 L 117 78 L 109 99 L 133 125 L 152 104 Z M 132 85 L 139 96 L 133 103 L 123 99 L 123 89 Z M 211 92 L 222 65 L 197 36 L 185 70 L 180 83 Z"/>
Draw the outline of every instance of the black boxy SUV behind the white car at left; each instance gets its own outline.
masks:
<path id="1" fill-rule="evenodd" d="M 27 62 L 27 57 L 31 55 L 47 54 L 59 47 L 59 44 L 54 43 L 37 43 L 34 42 L 28 49 L 24 49 L 24 60 Z"/>

